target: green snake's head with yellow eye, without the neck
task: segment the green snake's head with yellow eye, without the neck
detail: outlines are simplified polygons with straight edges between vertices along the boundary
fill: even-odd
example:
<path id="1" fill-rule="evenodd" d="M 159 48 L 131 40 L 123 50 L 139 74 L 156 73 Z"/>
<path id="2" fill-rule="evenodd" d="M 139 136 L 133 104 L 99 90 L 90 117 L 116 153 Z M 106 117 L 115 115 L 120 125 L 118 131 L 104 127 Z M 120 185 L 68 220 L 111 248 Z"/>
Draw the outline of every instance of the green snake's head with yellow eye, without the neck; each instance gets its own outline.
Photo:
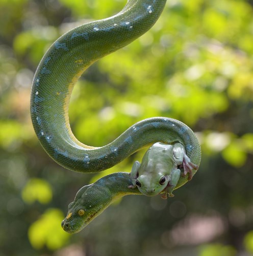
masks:
<path id="1" fill-rule="evenodd" d="M 68 205 L 68 213 L 61 226 L 68 233 L 77 233 L 101 214 L 110 204 L 111 195 L 105 187 L 94 184 L 82 187 L 73 202 Z"/>

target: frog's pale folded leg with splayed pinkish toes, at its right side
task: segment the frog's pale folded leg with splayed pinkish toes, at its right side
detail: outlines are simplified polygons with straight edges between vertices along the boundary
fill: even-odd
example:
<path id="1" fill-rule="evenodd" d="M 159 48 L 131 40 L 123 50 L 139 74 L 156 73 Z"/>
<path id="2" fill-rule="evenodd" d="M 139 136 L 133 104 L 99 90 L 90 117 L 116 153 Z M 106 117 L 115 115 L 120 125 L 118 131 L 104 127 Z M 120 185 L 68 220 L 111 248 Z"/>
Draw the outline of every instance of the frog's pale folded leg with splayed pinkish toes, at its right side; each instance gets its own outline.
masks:
<path id="1" fill-rule="evenodd" d="M 191 162 L 190 158 L 186 155 L 185 147 L 181 143 L 175 143 L 173 146 L 173 156 L 175 163 L 179 166 L 182 165 L 184 169 L 184 176 L 188 173 L 188 180 L 192 179 L 192 171 L 197 170 L 198 166 Z"/>

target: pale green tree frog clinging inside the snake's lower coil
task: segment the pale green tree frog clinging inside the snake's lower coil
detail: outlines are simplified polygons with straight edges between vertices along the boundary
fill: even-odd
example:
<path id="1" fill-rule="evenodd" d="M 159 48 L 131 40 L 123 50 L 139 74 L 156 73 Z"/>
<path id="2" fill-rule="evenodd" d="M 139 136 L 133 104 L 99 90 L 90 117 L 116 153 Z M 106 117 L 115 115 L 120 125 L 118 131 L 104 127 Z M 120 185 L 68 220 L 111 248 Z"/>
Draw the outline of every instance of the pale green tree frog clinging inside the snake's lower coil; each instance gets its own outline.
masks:
<path id="1" fill-rule="evenodd" d="M 188 173 L 188 180 L 192 179 L 192 170 L 198 166 L 191 163 L 181 143 L 173 145 L 157 142 L 148 148 L 142 162 L 136 161 L 132 167 L 132 188 L 138 187 L 146 196 L 162 194 L 162 198 L 173 197 L 172 191 L 181 176 Z"/>

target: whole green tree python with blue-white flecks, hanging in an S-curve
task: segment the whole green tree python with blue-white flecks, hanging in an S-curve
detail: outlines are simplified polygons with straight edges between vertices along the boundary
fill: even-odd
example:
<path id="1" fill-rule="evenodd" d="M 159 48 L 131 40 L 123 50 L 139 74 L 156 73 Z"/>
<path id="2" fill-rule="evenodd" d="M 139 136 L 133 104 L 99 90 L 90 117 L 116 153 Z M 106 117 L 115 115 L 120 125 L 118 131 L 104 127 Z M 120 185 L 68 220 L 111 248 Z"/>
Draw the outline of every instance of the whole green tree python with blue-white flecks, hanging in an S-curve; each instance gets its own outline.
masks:
<path id="1" fill-rule="evenodd" d="M 33 80 L 31 117 L 44 150 L 58 164 L 75 172 L 100 172 L 144 146 L 156 142 L 181 143 L 195 167 L 188 176 L 179 166 L 182 175 L 174 175 L 177 181 L 173 189 L 185 184 L 195 174 L 201 158 L 200 146 L 191 129 L 178 120 L 167 117 L 142 120 L 102 147 L 78 141 L 69 124 L 68 105 L 75 82 L 93 62 L 130 44 L 149 30 L 165 3 L 166 0 L 129 0 L 118 14 L 62 35 L 43 56 Z M 131 173 L 136 173 L 136 168 Z M 68 206 L 63 229 L 69 233 L 78 232 L 117 198 L 142 194 L 138 181 L 133 184 L 133 179 L 137 177 L 131 177 L 129 173 L 114 173 L 82 187 Z"/>

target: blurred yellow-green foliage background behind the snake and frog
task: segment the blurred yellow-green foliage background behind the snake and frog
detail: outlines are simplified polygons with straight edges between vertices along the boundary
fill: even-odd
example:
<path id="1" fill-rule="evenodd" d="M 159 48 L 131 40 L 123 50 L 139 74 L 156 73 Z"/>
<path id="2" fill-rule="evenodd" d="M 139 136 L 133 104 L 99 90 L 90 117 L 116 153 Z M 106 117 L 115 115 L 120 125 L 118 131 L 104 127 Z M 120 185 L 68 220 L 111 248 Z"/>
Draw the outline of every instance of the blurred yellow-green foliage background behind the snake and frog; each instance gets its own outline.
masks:
<path id="1" fill-rule="evenodd" d="M 30 89 L 46 49 L 69 29 L 117 13 L 124 0 L 0 0 L 0 255 L 253 255 L 253 9 L 246 0 L 168 0 L 156 25 L 85 72 L 72 130 L 102 146 L 135 122 L 188 124 L 203 160 L 175 197 L 127 196 L 77 234 L 61 229 L 82 186 L 130 172 L 143 151 L 99 175 L 43 151 Z"/>

